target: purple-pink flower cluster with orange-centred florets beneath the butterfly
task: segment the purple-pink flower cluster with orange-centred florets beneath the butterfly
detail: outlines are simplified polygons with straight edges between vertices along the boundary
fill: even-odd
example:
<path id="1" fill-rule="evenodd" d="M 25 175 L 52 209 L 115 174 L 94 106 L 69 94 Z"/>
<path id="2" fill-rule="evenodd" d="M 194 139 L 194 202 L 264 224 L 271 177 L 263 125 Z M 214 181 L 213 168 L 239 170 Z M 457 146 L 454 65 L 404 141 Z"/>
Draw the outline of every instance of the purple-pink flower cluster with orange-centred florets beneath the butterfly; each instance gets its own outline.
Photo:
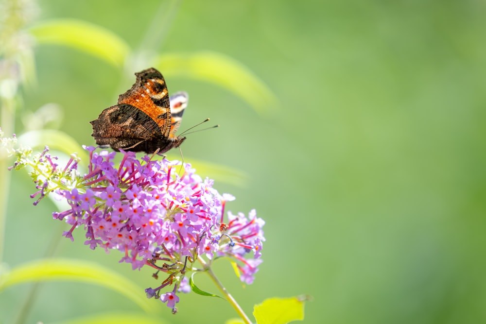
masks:
<path id="1" fill-rule="evenodd" d="M 167 273 L 160 287 L 146 292 L 171 308 L 179 300 L 176 292 L 188 291 L 185 274 L 198 258 L 230 257 L 240 279 L 253 282 L 264 240 L 264 222 L 255 210 L 248 217 L 229 212 L 225 220 L 225 204 L 234 197 L 220 195 L 212 188 L 213 180 L 202 180 L 190 164 L 178 172 L 180 166 L 166 159 L 144 156 L 140 161 L 133 152 L 121 152 L 115 166 L 115 152 L 86 149 L 89 171 L 82 184 L 57 191 L 70 205 L 53 213 L 72 225 L 64 236 L 73 240 L 74 229 L 84 227 L 91 249 L 117 249 L 124 254 L 120 262 L 131 263 L 133 269 L 149 265 Z M 171 284 L 171 292 L 159 293 Z"/>

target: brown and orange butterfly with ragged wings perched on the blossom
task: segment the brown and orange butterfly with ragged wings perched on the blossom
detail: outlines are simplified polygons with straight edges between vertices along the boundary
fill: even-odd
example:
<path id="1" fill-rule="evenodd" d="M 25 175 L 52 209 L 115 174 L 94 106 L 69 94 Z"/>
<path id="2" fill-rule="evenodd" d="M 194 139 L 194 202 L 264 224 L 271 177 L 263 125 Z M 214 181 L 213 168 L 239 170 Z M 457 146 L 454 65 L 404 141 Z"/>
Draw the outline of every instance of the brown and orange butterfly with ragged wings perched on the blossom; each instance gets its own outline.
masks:
<path id="1" fill-rule="evenodd" d="M 181 91 L 169 97 L 164 77 L 155 68 L 135 73 L 137 80 L 118 97 L 118 104 L 90 121 L 96 144 L 115 151 L 165 153 L 186 137 L 177 137 L 189 96 Z"/>

